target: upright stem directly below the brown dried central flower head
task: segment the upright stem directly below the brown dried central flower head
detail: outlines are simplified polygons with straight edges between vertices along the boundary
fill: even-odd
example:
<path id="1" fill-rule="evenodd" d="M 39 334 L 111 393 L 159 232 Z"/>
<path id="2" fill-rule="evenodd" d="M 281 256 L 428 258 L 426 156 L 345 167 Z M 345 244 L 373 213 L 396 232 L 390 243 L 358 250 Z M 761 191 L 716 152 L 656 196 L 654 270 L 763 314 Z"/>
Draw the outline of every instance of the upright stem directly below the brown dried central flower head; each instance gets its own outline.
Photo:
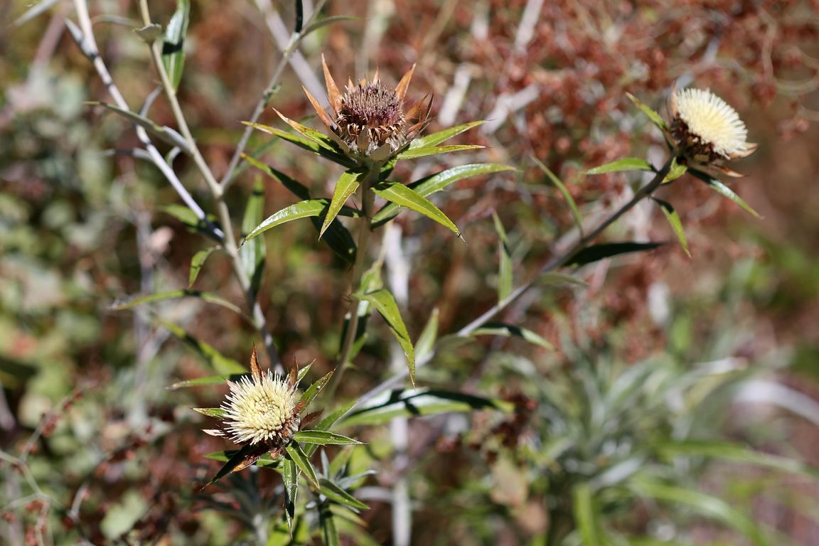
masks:
<path id="1" fill-rule="evenodd" d="M 364 271 L 367 265 L 367 246 L 369 245 L 369 236 L 373 231 L 371 221 L 373 217 L 373 206 L 375 204 L 375 193 L 370 191 L 373 183 L 378 180 L 378 174 L 381 173 L 381 163 L 371 163 L 368 165 L 367 175 L 361 182 L 361 218 L 358 224 L 358 243 L 355 250 L 355 263 L 353 264 L 352 279 L 350 282 L 351 295 L 350 307 L 347 309 L 347 329 L 342 341 L 342 350 L 336 364 L 336 372 L 330 379 L 330 384 L 327 388 L 327 395 L 332 396 L 336 390 L 339 381 L 342 379 L 347 362 L 350 360 L 350 354 L 355 344 L 355 334 L 358 332 L 359 326 L 359 305 L 360 300 L 355 293 L 361 289 L 361 278 L 364 277 Z"/>

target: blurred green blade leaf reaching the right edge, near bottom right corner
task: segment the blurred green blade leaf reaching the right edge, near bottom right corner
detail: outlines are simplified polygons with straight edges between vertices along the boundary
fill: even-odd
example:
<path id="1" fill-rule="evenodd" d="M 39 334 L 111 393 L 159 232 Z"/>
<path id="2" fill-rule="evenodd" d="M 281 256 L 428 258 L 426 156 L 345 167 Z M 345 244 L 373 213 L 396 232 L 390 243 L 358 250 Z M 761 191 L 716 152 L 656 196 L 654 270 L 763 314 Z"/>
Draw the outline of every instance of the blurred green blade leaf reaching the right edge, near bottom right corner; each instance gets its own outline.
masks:
<path id="1" fill-rule="evenodd" d="M 705 457 L 731 461 L 732 463 L 753 464 L 779 472 L 790 472 L 819 479 L 819 468 L 812 467 L 793 458 L 781 457 L 749 449 L 744 445 L 730 442 L 696 441 L 667 442 L 657 449 L 665 457 Z"/>

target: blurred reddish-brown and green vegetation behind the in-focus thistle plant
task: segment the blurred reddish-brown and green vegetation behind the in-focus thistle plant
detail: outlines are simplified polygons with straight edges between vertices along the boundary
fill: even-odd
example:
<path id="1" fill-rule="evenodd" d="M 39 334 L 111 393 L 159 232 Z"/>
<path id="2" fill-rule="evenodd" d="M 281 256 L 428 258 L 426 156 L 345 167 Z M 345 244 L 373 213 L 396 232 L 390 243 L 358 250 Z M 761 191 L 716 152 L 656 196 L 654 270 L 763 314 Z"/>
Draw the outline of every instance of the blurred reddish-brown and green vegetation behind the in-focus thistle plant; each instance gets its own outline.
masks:
<path id="1" fill-rule="evenodd" d="M 156 169 L 109 153 L 138 145 L 133 128 L 84 105 L 107 100 L 106 89 L 66 32 L 73 4 L 45 3 L 52 7 L 19 25 L 11 21 L 29 2 L 0 6 L 0 439 L 8 455 L 0 541 L 252 542 L 247 514 L 264 505 L 273 524 L 281 503 L 272 493 L 242 500 L 251 487 L 242 481 L 278 478 L 234 476 L 224 489 L 198 492 L 217 467 L 203 455 L 225 446 L 201 434 L 204 420 L 189 408 L 215 405 L 224 389 L 165 388 L 212 372 L 157 318 L 240 362 L 259 341 L 236 315 L 198 300 L 152 313 L 111 309 L 187 287 L 206 241 L 163 211 L 178 198 Z M 150 3 L 166 24 L 174 2 Z M 281 57 L 277 38 L 289 37 L 295 12 L 285 3 L 192 2 L 179 97 L 217 176 Z M 138 108 L 157 79 L 131 32 L 136 7 L 105 0 L 91 8 L 102 57 Z M 428 221 L 396 220 L 411 264 L 404 318 L 414 339 L 433 308 L 446 333 L 495 303 L 493 211 L 518 282 L 572 229 L 563 196 L 532 156 L 590 218 L 640 178 L 586 177 L 585 169 L 661 158 L 661 137 L 625 93 L 659 109 L 675 81 L 711 88 L 760 143 L 735 165 L 748 176 L 732 187 L 762 219 L 683 178 L 662 196 L 681 214 L 692 258 L 669 244 L 590 264 L 577 274 L 585 286 L 545 283 L 505 314 L 555 350 L 486 338 L 419 371 L 422 385 L 507 399 L 514 412 L 412 419 L 400 460 L 386 426 L 350 427 L 345 433 L 369 442 L 352 466 L 378 472 L 358 490 L 371 509 L 360 514 L 364 526 L 343 530 L 345 544 L 392 544 L 388 501 L 398 481 L 413 502 L 413 544 L 819 544 L 812 471 L 782 472 L 793 470 L 786 459 L 819 466 L 819 2 L 357 0 L 324 9 L 358 19 L 305 38 L 271 98 L 279 111 L 309 114 L 301 84 L 320 86 L 322 52 L 342 81 L 378 66 L 394 83 L 417 62 L 409 94 L 436 97 L 430 130 L 488 120 L 461 141 L 486 150 L 443 165 L 520 169 L 465 179 L 437 201 L 468 246 Z M 162 98 L 151 116 L 174 126 Z M 280 125 L 270 110 L 261 121 Z M 268 142 L 254 139 L 251 149 Z M 284 143 L 265 162 L 320 195 L 339 174 Z M 188 160 L 174 169 L 207 209 Z M 244 171 L 229 193 L 237 216 L 256 176 Z M 268 213 L 293 202 L 270 179 L 265 192 Z M 608 235 L 674 238 L 648 206 Z M 266 241 L 261 301 L 274 338 L 284 362 L 315 360 L 319 377 L 336 356 L 347 265 L 309 223 L 288 223 Z M 196 287 L 242 301 L 218 255 Z M 374 327 L 380 335 L 346 374 L 341 399 L 389 377 L 389 334 Z M 672 453 L 672 440 L 690 442 L 690 452 Z M 725 442 L 780 458 L 726 457 Z M 710 456 L 708 446 L 722 454 Z"/>

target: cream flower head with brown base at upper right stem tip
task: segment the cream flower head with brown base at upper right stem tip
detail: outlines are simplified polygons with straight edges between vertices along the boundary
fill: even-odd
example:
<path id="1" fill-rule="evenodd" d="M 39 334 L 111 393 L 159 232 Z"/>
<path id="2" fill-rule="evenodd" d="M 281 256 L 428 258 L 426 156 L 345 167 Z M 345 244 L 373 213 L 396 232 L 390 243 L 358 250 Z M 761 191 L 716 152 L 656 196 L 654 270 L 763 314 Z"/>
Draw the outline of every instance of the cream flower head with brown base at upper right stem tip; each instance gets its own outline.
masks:
<path id="1" fill-rule="evenodd" d="M 672 140 L 680 155 L 695 165 L 722 168 L 726 160 L 749 156 L 757 145 L 746 141 L 748 129 L 740 115 L 722 98 L 703 89 L 672 93 L 669 105 Z"/>

